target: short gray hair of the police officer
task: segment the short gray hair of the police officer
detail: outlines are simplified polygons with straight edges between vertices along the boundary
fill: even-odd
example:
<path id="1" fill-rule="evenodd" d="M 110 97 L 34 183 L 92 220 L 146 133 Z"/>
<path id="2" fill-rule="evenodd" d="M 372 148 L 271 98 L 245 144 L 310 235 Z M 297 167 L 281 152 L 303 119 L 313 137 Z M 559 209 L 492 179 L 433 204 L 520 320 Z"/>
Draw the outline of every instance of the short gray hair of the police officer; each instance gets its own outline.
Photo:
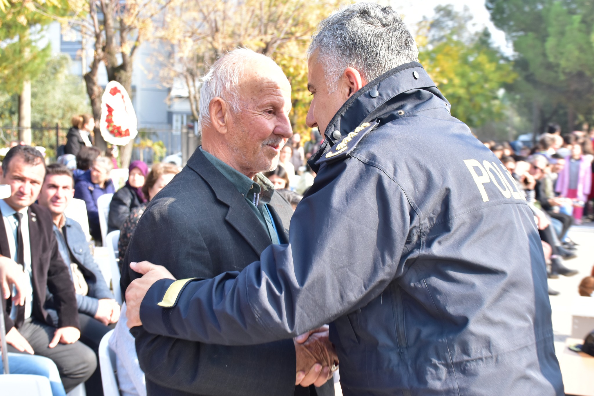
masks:
<path id="1" fill-rule="evenodd" d="M 415 39 L 400 14 L 374 3 L 349 5 L 321 21 L 308 56 L 317 49 L 330 93 L 348 67 L 357 69 L 370 82 L 419 59 Z"/>

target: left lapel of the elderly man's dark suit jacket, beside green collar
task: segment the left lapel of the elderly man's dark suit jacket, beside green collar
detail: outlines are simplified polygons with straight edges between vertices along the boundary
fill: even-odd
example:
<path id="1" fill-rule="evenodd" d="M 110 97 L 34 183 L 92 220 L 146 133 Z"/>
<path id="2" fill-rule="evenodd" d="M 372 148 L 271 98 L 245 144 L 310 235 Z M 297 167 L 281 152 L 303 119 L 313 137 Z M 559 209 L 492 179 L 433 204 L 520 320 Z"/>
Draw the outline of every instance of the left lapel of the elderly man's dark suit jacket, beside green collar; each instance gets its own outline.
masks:
<path id="1" fill-rule="evenodd" d="M 260 255 L 270 245 L 270 236 L 233 183 L 206 159 L 199 148 L 194 151 L 187 166 L 210 185 L 219 201 L 228 205 L 229 210 L 225 220 L 244 237 L 256 254 Z"/>

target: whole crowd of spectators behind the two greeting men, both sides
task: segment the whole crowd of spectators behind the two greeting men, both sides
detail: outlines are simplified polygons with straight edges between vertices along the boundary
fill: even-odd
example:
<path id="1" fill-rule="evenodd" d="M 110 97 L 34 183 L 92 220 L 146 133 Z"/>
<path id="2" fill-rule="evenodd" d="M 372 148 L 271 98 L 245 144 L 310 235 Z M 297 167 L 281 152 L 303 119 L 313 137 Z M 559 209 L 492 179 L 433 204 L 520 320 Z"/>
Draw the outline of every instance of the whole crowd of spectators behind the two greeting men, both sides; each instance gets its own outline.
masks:
<path id="1" fill-rule="evenodd" d="M 99 221 L 102 214 L 97 199 L 113 194 L 108 232 L 120 230 L 118 259 L 123 262 L 132 233 L 148 202 L 180 169 L 171 163 L 154 163 L 149 168 L 143 161 L 132 161 L 127 182 L 116 191 L 110 179 L 110 172 L 118 166 L 113 150 L 109 150 L 109 156 L 102 155 L 99 148 L 90 144 L 89 132 L 93 130 L 94 120 L 82 115 L 75 116 L 72 123 L 66 153 L 58 157 L 56 163 L 46 166 L 41 151 L 23 144 L 12 145 L 2 163 L 2 183 L 11 184 L 13 194 L 0 200 L 0 210 L 5 227 L 10 231 L 7 235 L 14 238 L 8 237 L 4 246 L 0 240 L 4 256 L 0 264 L 2 259 L 11 258 L 24 263 L 29 275 L 35 265 L 41 265 L 45 271 L 42 279 L 31 277 L 31 293 L 37 299 L 24 310 L 24 315 L 18 312 L 15 297 L 12 297 L 12 308 L 5 307 L 11 367 L 13 372 L 47 376 L 53 395 L 64 395 L 82 382 L 88 395 L 102 395 L 97 352 L 103 335 L 116 328 L 110 346 L 120 355 L 119 386 L 123 394 L 144 395 L 144 377 L 135 356 L 134 339 L 125 325 L 125 316 L 121 315 L 125 304 L 121 307 L 116 302 L 92 255 L 92 246 L 102 243 Z M 312 129 L 305 145 L 298 134 L 293 135 L 280 151 L 279 166 L 264 173 L 293 210 L 313 184 L 315 173 L 307 160 L 322 141 L 317 129 Z M 549 264 L 549 278 L 576 274 L 576 270 L 564 265 L 564 261 L 576 257 L 576 243 L 567 232 L 574 224 L 594 219 L 594 129 L 562 136 L 560 128 L 551 125 L 532 148 L 519 141 L 484 144 L 511 173 L 534 213 Z M 80 224 L 64 214 L 72 198 L 83 199 L 86 203 L 91 242 Z M 36 214 L 37 205 L 49 209 L 50 219 L 46 219 L 45 213 Z M 39 219 L 38 224 L 43 224 L 42 232 L 46 234 L 50 227 L 57 246 L 47 246 L 40 251 L 30 243 L 27 248 L 27 239 L 33 242 L 33 230 L 27 230 L 28 235 L 21 231 L 23 217 L 16 217 L 18 213 L 29 213 L 33 221 Z M 51 226 L 46 220 L 51 220 Z M 18 235 L 21 232 L 23 235 Z M 26 253 L 21 252 L 21 244 Z M 4 252 L 7 246 L 9 250 Z M 65 268 L 67 273 L 64 268 L 56 271 L 58 257 L 69 263 Z M 75 301 L 69 301 L 66 296 L 71 287 Z M 584 278 L 579 293 L 590 296 L 592 290 L 594 277 Z M 558 292 L 549 288 L 549 294 Z M 77 317 L 67 312 L 74 309 L 74 303 Z M 69 331 L 72 329 L 75 331 Z M 17 351 L 21 354 L 14 353 Z"/>

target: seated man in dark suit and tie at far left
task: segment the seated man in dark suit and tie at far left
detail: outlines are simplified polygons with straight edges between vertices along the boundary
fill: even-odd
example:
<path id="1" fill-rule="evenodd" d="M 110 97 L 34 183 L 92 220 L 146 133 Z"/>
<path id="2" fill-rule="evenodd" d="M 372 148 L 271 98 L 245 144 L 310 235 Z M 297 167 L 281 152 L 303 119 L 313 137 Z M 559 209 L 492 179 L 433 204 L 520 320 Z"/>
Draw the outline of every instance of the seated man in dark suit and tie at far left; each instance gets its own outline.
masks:
<path id="1" fill-rule="evenodd" d="M 0 183 L 12 195 L 0 199 L 4 228 L 0 255 L 24 269 L 30 293 L 23 299 L 0 299 L 4 309 L 9 352 L 39 354 L 52 359 L 67 392 L 86 381 L 97 367 L 89 347 L 78 342 L 80 325 L 74 286 L 58 250 L 52 217 L 34 204 L 45 178 L 45 162 L 35 148 L 17 145 L 4 157 Z M 58 322 L 43 307 L 46 290 L 53 294 Z M 6 296 L 4 296 L 6 297 Z"/>

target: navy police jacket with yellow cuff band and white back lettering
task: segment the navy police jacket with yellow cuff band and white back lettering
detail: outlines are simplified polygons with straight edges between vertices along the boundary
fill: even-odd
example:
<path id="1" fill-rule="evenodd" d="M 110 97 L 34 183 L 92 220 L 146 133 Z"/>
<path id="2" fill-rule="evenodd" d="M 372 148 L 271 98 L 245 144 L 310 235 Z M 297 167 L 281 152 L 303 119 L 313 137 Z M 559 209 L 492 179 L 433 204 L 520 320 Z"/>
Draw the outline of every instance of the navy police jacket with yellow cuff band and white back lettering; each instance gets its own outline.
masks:
<path id="1" fill-rule="evenodd" d="M 289 243 L 241 273 L 158 281 L 144 329 L 238 345 L 330 322 L 345 395 L 563 395 L 532 211 L 449 107 L 417 63 L 357 91 Z"/>

